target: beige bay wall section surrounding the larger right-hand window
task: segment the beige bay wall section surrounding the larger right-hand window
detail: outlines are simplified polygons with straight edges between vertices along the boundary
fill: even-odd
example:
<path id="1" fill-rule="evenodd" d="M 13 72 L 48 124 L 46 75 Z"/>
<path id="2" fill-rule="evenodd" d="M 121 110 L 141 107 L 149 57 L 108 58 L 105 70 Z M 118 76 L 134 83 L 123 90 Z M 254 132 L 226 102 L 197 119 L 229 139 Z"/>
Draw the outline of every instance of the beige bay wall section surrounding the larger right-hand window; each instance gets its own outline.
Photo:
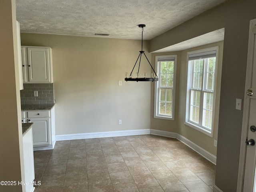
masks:
<path id="1" fill-rule="evenodd" d="M 195 130 L 189 126 L 184 124 L 185 121 L 185 102 L 186 102 L 186 76 L 187 76 L 187 52 L 200 50 L 204 48 L 210 48 L 218 46 L 218 68 L 217 68 L 217 84 L 216 84 L 216 99 L 215 99 L 215 109 L 214 109 L 214 127 L 213 127 L 213 136 L 207 136 L 206 134 Z M 198 146 L 204 148 L 211 154 L 216 156 L 217 148 L 214 147 L 214 139 L 217 140 L 218 137 L 218 120 L 219 120 L 219 106 L 220 106 L 220 84 L 221 84 L 221 70 L 222 70 L 222 53 L 223 53 L 223 42 L 216 42 L 212 44 L 208 44 L 205 46 L 200 46 L 188 50 L 184 50 L 181 52 L 181 60 L 180 60 L 180 92 L 179 92 L 179 113 L 178 113 L 178 121 L 179 121 L 179 134 L 187 138 L 188 140 L 194 142 Z"/>

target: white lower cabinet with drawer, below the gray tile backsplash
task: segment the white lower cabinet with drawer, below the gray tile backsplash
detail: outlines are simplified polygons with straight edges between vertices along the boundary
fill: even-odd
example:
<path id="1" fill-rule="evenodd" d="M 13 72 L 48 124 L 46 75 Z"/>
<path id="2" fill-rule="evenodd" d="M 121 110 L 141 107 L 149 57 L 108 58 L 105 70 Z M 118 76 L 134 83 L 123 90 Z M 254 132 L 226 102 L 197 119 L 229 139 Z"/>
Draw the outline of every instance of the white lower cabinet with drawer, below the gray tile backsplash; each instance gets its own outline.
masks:
<path id="1" fill-rule="evenodd" d="M 27 115 L 28 122 L 32 122 L 34 150 L 53 149 L 55 145 L 55 116 L 51 110 L 22 111 Z M 23 119 L 26 121 L 26 118 Z"/>

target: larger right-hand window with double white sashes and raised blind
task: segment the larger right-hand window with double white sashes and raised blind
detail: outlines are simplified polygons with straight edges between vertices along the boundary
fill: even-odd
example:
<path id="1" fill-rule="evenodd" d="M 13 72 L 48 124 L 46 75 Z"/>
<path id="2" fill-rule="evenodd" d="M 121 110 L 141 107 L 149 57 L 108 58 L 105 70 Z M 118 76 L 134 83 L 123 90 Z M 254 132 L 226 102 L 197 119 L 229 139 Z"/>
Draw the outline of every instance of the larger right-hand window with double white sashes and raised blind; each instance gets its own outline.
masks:
<path id="1" fill-rule="evenodd" d="M 217 47 L 188 53 L 186 121 L 212 136 Z"/>

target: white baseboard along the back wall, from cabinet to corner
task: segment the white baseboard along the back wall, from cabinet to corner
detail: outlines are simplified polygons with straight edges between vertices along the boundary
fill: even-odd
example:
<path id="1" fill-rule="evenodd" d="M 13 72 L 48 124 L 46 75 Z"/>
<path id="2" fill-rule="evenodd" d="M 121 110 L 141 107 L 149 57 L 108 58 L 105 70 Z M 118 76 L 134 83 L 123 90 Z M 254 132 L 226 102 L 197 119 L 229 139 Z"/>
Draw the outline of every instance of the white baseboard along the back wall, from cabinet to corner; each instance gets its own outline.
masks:
<path id="1" fill-rule="evenodd" d="M 56 135 L 56 141 L 150 134 L 150 129 Z"/>

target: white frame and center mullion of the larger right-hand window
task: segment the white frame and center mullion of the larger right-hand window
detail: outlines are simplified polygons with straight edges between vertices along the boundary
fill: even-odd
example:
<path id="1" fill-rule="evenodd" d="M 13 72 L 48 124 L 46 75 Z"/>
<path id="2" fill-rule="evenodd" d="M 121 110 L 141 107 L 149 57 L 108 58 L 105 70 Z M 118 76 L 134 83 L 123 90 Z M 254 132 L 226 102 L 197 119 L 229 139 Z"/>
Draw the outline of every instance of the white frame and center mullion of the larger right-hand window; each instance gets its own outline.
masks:
<path id="1" fill-rule="evenodd" d="M 191 128 L 194 128 L 210 137 L 213 137 L 213 132 L 214 132 L 214 122 L 215 122 L 215 113 L 216 113 L 216 91 L 217 91 L 217 79 L 218 79 L 218 50 L 219 47 L 218 46 L 214 46 L 214 47 L 210 47 L 210 48 L 206 48 L 206 49 L 200 49 L 200 50 L 195 50 L 195 51 L 191 51 L 191 52 L 187 52 L 187 68 L 186 68 L 186 97 L 185 97 L 185 118 L 184 118 L 184 124 L 186 124 L 187 126 L 190 126 Z M 192 54 L 202 54 L 204 52 L 211 52 L 211 51 L 216 51 L 216 63 L 215 63 L 215 76 L 214 76 L 214 95 L 213 95 L 213 104 L 212 104 L 212 127 L 211 129 L 206 128 L 204 126 L 201 126 L 200 124 L 196 124 L 192 121 L 190 121 L 190 91 L 191 91 L 191 87 L 192 87 L 192 65 L 189 63 L 189 55 Z M 203 66 L 204 68 L 204 66 Z M 202 85 L 204 86 L 204 84 L 206 83 L 206 71 L 204 71 L 204 82 L 202 82 Z M 194 90 L 194 88 L 193 88 Z M 204 90 L 204 88 L 202 87 L 201 90 L 202 93 L 206 92 L 208 93 L 209 90 Z M 204 97 L 204 94 L 200 95 L 200 102 L 202 102 L 202 98 Z M 200 107 L 200 113 L 202 113 L 202 110 L 204 108 L 204 104 L 202 102 L 202 107 Z M 202 123 L 202 119 L 203 116 L 201 116 L 201 119 L 199 119 L 199 122 Z"/>

